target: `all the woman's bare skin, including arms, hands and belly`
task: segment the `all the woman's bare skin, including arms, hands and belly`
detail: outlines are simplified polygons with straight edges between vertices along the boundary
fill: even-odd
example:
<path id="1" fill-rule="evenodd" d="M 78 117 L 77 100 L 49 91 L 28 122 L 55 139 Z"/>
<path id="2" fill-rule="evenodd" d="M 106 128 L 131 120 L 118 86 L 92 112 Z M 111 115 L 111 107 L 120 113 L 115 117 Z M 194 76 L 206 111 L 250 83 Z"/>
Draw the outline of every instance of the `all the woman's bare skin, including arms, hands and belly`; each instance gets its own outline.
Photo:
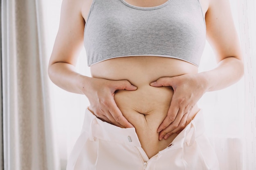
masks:
<path id="1" fill-rule="evenodd" d="M 166 0 L 126 2 L 154 7 Z M 215 69 L 198 73 L 196 66 L 182 60 L 120 57 L 92 65 L 92 77 L 83 76 L 76 72 L 75 65 L 91 3 L 92 0 L 63 0 L 49 76 L 66 91 L 86 95 L 89 109 L 102 120 L 123 128 L 135 127 L 149 158 L 166 148 L 191 121 L 204 93 L 234 84 L 243 75 L 228 0 L 201 0 L 207 40 L 216 52 Z"/>

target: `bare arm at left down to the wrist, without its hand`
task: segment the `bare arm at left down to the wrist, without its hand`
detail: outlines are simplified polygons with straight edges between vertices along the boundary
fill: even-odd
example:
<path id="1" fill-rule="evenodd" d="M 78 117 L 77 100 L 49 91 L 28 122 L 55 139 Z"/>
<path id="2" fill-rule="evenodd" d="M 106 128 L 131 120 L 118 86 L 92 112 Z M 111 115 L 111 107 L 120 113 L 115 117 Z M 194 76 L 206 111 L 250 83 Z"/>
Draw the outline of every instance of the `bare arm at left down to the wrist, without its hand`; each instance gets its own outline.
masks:
<path id="1" fill-rule="evenodd" d="M 79 94 L 83 94 L 80 86 L 84 82 L 81 80 L 89 79 L 82 78 L 75 68 L 78 54 L 83 47 L 85 21 L 79 7 L 81 3 L 82 0 L 63 0 L 59 29 L 48 67 L 49 77 L 54 84 Z"/>

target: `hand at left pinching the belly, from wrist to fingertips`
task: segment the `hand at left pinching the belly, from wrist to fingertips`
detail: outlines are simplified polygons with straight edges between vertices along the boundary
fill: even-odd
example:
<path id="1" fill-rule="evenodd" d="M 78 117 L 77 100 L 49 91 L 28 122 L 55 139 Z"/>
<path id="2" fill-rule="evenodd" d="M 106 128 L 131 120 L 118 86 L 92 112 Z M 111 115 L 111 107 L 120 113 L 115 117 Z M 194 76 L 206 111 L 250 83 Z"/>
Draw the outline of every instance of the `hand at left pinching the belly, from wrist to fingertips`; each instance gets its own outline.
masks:
<path id="1" fill-rule="evenodd" d="M 82 91 L 89 99 L 90 111 L 104 121 L 119 126 L 121 128 L 133 128 L 132 124 L 123 116 L 114 100 L 115 91 L 127 90 L 135 91 L 128 80 L 107 80 L 101 78 L 90 78 L 88 86 Z"/>

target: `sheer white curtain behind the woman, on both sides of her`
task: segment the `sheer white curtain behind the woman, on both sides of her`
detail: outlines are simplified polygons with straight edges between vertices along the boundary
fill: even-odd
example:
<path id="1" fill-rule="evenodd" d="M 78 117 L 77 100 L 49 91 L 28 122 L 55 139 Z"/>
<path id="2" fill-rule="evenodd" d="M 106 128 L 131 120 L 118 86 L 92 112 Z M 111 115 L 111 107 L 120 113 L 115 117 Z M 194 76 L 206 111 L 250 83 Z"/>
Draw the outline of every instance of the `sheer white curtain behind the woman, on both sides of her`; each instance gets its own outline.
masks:
<path id="1" fill-rule="evenodd" d="M 44 2 L 49 18 L 46 30 L 50 53 L 58 30 L 61 0 Z M 256 7 L 254 0 L 230 0 L 230 3 L 244 51 L 245 76 L 226 89 L 206 93 L 199 106 L 204 112 L 207 134 L 218 155 L 221 170 L 256 170 L 256 75 L 253 74 L 256 69 Z M 215 66 L 215 57 L 207 44 L 199 70 L 206 71 Z M 90 75 L 85 51 L 82 51 L 77 67 L 80 73 Z M 65 170 L 67 157 L 79 136 L 83 113 L 89 103 L 85 96 L 65 92 L 52 83 L 51 89 L 58 153 L 61 167 Z"/>

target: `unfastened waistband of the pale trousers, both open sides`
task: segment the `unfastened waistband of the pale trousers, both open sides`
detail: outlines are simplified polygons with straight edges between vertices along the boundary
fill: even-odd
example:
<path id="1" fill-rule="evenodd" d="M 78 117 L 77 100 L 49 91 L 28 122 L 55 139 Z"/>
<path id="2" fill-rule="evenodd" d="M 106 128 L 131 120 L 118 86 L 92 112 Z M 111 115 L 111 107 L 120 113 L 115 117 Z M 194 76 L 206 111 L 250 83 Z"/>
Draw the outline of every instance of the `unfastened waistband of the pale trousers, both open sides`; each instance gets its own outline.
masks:
<path id="1" fill-rule="evenodd" d="M 177 135 L 172 144 L 175 146 L 182 146 L 184 143 L 191 145 L 195 138 L 204 133 L 204 129 L 203 114 L 200 110 L 184 130 Z M 88 109 L 85 111 L 82 132 L 88 133 L 92 141 L 101 139 L 129 146 L 141 146 L 135 128 L 120 128 L 109 124 L 97 118 Z"/>

